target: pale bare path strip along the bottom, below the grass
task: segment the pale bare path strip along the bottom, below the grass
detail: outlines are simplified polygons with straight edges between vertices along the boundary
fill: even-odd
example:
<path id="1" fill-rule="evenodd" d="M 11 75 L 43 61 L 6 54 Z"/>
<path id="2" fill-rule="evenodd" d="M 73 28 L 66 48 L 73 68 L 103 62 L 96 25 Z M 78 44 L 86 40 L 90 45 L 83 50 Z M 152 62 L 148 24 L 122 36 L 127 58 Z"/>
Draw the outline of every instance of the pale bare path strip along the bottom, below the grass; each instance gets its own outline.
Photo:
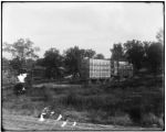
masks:
<path id="1" fill-rule="evenodd" d="M 27 131 L 54 131 L 54 130 L 160 130 L 158 128 L 136 128 L 136 127 L 115 127 L 115 125 L 101 125 L 101 124 L 90 124 L 90 123 L 77 123 L 72 127 L 72 122 L 69 122 L 64 128 L 61 128 L 62 121 L 55 122 L 54 120 L 45 120 L 44 122 L 39 122 L 38 118 L 24 117 L 24 116 L 13 116 L 13 114 L 2 114 L 2 128 L 4 131 L 13 130 L 27 130 Z"/>

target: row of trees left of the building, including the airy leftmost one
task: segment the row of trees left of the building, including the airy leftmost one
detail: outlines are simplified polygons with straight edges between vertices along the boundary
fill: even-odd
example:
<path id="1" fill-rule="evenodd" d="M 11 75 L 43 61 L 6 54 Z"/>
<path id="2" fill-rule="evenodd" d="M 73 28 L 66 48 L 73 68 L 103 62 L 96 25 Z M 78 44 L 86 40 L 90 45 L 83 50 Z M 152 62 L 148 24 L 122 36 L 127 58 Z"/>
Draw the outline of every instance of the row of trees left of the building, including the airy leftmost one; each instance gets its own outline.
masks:
<path id="1" fill-rule="evenodd" d="M 11 53 L 13 57 L 11 61 L 3 57 L 2 63 L 7 64 L 8 62 L 9 66 L 17 73 L 23 68 L 32 69 L 34 66 L 43 66 L 46 78 L 59 78 L 64 73 L 76 77 L 80 75 L 81 61 L 84 57 L 104 59 L 103 54 L 96 54 L 93 50 L 79 48 L 79 46 L 70 47 L 63 54 L 60 54 L 58 48 L 51 47 L 45 51 L 43 58 L 39 58 L 37 52 L 40 48 L 34 47 L 33 42 L 29 38 L 20 38 L 13 44 L 3 43 L 2 50 Z"/>

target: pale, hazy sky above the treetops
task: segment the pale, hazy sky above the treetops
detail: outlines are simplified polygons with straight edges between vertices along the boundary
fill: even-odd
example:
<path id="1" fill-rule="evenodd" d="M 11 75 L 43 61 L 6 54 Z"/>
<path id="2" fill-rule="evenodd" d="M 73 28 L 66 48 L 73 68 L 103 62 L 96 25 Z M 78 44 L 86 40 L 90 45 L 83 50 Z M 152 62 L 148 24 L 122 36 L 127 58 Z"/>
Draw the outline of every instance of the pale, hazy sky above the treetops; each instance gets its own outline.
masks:
<path id="1" fill-rule="evenodd" d="M 51 47 L 79 46 L 111 57 L 114 43 L 156 41 L 164 29 L 160 2 L 4 2 L 2 42 L 30 38 L 43 57 Z M 9 54 L 2 54 L 9 56 Z"/>

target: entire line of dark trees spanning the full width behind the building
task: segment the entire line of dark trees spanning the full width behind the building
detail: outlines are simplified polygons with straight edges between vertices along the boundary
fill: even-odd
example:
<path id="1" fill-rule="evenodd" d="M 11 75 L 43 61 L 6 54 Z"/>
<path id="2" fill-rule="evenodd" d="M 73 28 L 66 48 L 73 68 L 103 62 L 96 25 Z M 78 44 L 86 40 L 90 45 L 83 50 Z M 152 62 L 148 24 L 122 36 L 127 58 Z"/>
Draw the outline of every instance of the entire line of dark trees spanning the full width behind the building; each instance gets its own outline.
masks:
<path id="1" fill-rule="evenodd" d="M 127 61 L 134 66 L 137 73 L 141 68 L 147 68 L 153 73 L 157 73 L 164 68 L 164 32 L 160 30 L 156 35 L 156 42 L 132 40 L 125 43 L 115 43 L 111 48 L 111 58 L 116 61 Z M 12 54 L 12 59 L 8 62 L 17 73 L 23 67 L 32 69 L 34 66 L 45 67 L 46 78 L 59 78 L 64 75 L 81 76 L 81 63 L 85 57 L 104 59 L 103 54 L 97 54 L 93 50 L 84 50 L 79 46 L 70 47 L 60 54 L 55 47 L 45 51 L 44 57 L 39 58 L 37 53 L 39 47 L 33 46 L 33 42 L 29 38 L 20 38 L 13 44 L 3 43 L 2 51 Z"/>

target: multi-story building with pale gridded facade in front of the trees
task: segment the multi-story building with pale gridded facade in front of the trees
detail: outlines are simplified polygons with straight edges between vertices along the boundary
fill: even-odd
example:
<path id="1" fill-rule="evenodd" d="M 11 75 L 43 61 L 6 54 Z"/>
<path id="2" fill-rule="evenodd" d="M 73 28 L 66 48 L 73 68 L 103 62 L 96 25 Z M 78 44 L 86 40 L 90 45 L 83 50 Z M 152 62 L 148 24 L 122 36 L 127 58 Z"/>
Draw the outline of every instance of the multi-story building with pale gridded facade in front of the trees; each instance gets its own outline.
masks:
<path id="1" fill-rule="evenodd" d="M 81 79 L 111 79 L 111 77 L 133 76 L 133 65 L 127 62 L 115 62 L 108 59 L 86 58 L 82 61 Z"/>

